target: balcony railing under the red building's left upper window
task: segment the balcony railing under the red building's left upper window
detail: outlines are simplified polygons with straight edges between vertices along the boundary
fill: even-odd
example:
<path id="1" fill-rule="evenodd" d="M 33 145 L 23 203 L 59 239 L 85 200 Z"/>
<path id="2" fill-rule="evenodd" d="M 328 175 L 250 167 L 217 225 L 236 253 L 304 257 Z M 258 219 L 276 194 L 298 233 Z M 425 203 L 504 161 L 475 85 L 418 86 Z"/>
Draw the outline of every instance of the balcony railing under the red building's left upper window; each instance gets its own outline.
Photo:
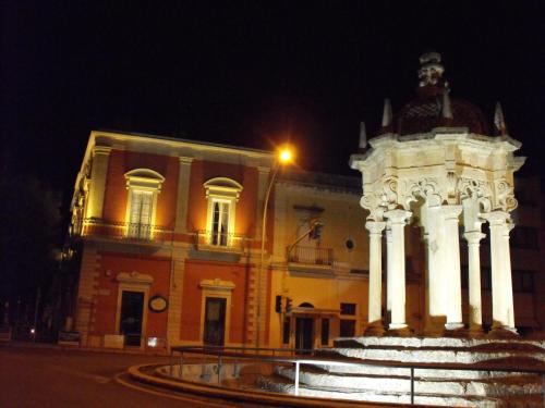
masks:
<path id="1" fill-rule="evenodd" d="M 155 243 L 172 239 L 172 231 L 164 226 L 132 222 L 111 222 L 95 219 L 83 220 L 80 235 Z"/>

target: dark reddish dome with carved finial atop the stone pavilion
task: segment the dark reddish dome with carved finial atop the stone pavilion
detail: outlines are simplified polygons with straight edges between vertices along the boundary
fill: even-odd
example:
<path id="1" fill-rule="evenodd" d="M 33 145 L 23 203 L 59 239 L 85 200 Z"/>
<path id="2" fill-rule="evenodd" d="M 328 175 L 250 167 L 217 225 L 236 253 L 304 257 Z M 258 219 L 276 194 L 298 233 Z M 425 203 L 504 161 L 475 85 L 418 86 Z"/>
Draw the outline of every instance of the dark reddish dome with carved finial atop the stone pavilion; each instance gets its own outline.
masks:
<path id="1" fill-rule="evenodd" d="M 420 58 L 419 89 L 415 99 L 407 103 L 393 118 L 385 121 L 383 129 L 400 135 L 427 133 L 434 127 L 468 127 L 470 132 L 488 135 L 488 122 L 483 112 L 463 99 L 450 98 L 448 83 L 443 81 L 444 66 L 437 52 Z M 385 126 L 389 123 L 388 126 Z"/>

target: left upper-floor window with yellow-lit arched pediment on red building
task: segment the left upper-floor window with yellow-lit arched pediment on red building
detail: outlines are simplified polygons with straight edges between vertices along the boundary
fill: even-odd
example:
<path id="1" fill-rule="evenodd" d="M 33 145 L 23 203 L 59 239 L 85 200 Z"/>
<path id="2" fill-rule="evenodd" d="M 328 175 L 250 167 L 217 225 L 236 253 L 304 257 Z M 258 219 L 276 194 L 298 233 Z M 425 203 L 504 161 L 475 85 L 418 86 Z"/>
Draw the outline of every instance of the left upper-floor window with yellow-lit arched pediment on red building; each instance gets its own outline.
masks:
<path id="1" fill-rule="evenodd" d="M 153 235 L 157 195 L 165 177 L 149 169 L 135 169 L 125 173 L 129 190 L 126 206 L 126 236 L 149 239 Z"/>

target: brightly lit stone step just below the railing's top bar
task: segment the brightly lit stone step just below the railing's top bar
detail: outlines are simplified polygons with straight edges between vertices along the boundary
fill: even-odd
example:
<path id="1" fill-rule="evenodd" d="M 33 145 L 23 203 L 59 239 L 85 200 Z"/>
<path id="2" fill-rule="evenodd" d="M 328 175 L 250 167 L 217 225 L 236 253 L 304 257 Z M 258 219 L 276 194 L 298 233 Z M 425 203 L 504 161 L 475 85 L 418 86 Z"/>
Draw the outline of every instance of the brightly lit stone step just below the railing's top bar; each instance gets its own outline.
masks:
<path id="1" fill-rule="evenodd" d="M 276 373 L 294 381 L 295 370 L 292 367 L 277 367 Z M 410 376 L 380 376 L 380 375 L 342 375 L 330 374 L 319 370 L 303 369 L 300 371 L 300 383 L 317 388 L 332 387 L 349 392 L 388 391 L 409 393 L 411 391 Z M 504 396 L 529 395 L 541 393 L 542 382 L 538 375 L 517 378 L 499 378 L 493 380 L 463 380 L 438 379 L 422 380 L 415 378 L 414 390 L 419 393 L 436 395 L 471 395 L 471 396 Z"/>

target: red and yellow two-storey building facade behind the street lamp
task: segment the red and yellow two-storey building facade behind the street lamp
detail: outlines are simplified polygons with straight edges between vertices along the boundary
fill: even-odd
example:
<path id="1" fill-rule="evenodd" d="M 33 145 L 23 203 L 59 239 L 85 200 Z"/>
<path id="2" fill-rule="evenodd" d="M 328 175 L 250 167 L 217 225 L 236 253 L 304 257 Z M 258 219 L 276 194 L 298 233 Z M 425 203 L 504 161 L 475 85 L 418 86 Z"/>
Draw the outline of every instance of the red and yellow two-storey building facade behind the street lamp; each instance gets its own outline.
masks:
<path id="1" fill-rule="evenodd" d="M 367 239 L 356 223 L 364 213 L 358 178 L 281 172 L 261 269 L 275 160 L 266 151 L 93 132 L 70 231 L 81 258 L 72 329 L 82 344 L 313 348 L 361 332 Z M 310 238 L 316 220 L 323 234 Z"/>

